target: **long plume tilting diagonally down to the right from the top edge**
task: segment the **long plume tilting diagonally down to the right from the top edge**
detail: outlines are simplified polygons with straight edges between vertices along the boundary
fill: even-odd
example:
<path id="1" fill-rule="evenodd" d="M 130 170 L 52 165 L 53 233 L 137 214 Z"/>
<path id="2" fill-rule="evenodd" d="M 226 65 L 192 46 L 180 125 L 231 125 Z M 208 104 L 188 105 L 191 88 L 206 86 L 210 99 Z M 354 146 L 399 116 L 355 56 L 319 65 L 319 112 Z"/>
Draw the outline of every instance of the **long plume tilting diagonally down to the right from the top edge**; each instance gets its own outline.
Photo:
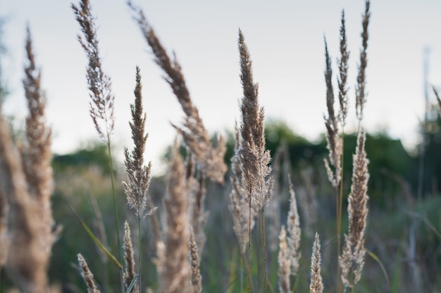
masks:
<path id="1" fill-rule="evenodd" d="M 199 116 L 199 111 L 196 106 L 193 105 L 190 98 L 190 92 L 185 84 L 185 78 L 178 60 L 175 58 L 173 58 L 173 60 L 170 59 L 166 49 L 162 46 L 158 37 L 156 37 L 153 28 L 149 22 L 147 22 L 142 9 L 135 7 L 131 1 L 128 2 L 128 5 L 134 13 L 134 18 L 147 44 L 149 44 L 154 53 L 156 64 L 158 64 L 166 74 L 164 78 L 170 85 L 176 98 L 178 98 L 182 110 L 185 112 L 186 117 L 182 127 L 172 125 L 177 129 L 179 134 L 182 135 L 185 143 L 196 156 L 199 166 L 206 172 L 206 175 L 217 183 L 223 183 L 225 173 L 228 169 L 223 160 L 226 151 L 224 138 L 219 136 L 218 146 L 217 148 L 213 148 L 208 131 L 206 131 L 204 123 Z"/>

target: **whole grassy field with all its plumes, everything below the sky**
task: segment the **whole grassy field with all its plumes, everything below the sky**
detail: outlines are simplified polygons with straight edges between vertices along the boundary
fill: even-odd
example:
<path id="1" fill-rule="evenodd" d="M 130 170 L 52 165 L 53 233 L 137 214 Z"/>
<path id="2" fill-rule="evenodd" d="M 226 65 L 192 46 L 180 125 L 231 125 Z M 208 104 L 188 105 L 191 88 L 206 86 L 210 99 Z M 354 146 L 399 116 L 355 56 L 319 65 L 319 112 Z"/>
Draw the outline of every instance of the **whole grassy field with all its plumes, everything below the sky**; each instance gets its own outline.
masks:
<path id="1" fill-rule="evenodd" d="M 415 184 L 400 175 L 414 165 L 364 131 L 371 16 L 365 4 L 356 134 L 344 131 L 351 111 L 344 13 L 336 87 L 325 40 L 323 155 L 320 145 L 299 138 L 268 142 L 252 48 L 241 30 L 242 117 L 229 136 L 211 136 L 178 60 L 129 2 L 185 113 L 182 124 L 173 124 L 168 171 L 154 178 L 144 159 L 146 143 L 154 143 L 144 126 L 154 109 L 143 108 L 139 67 L 128 126 L 133 148 L 125 149 L 123 163 L 114 159 L 115 98 L 89 1 L 72 8 L 88 60 L 91 127 L 100 141 L 75 155 L 51 154 L 28 29 L 23 138 L 0 118 L 0 292 L 441 292 L 437 181 L 433 192 L 416 196 Z M 309 151 L 297 152 L 301 146 Z M 389 165 L 376 164 L 378 148 L 395 157 Z"/>

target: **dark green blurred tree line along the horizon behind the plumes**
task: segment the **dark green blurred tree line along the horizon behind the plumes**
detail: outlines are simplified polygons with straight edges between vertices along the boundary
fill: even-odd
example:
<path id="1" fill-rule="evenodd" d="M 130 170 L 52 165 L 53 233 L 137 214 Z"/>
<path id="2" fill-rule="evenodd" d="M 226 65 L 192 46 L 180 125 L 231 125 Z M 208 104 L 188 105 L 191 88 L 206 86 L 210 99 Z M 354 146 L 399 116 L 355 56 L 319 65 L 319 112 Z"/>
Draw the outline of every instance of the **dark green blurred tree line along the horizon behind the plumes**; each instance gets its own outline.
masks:
<path id="1" fill-rule="evenodd" d="M 426 139 L 424 150 L 424 180 L 423 194 L 436 194 L 440 190 L 441 182 L 441 119 L 436 108 L 430 112 L 428 123 L 424 127 Z M 225 162 L 230 164 L 234 154 L 234 134 L 227 131 L 227 147 Z M 214 138 L 213 138 L 214 139 Z M 292 129 L 280 120 L 269 120 L 266 124 L 266 146 L 271 150 L 274 159 L 275 153 L 281 145 L 285 145 L 290 158 L 292 177 L 295 183 L 302 180 L 302 171 L 308 168 L 314 170 L 314 182 L 323 182 L 325 176 L 323 158 L 328 156 L 325 136 L 318 141 L 308 141 L 295 134 Z M 356 147 L 356 134 L 344 136 L 344 188 L 349 193 L 352 175 L 352 155 Z M 420 147 L 420 146 L 416 146 Z M 396 201 L 405 200 L 404 197 L 415 197 L 418 189 L 419 154 L 409 154 L 399 139 L 390 138 L 385 132 L 367 134 L 366 152 L 369 159 L 368 194 L 371 202 L 378 207 L 387 207 Z M 185 155 L 185 148 L 182 148 Z M 170 148 L 164 150 L 163 162 L 168 162 Z M 106 148 L 99 143 L 91 144 L 68 155 L 54 155 L 54 170 L 63 172 L 66 167 L 84 168 L 89 165 L 100 167 L 108 172 Z M 297 181 L 297 182 L 296 182 Z M 330 186 L 329 186 L 330 187 Z"/>

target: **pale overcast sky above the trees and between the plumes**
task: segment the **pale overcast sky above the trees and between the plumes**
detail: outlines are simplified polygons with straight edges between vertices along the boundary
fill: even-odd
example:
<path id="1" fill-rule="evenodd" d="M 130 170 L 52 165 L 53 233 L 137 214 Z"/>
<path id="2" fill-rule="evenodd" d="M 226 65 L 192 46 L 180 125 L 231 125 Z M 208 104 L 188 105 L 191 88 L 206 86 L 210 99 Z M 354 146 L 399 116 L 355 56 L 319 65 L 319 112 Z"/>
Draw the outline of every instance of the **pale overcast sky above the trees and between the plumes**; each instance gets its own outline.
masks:
<path id="1" fill-rule="evenodd" d="M 25 27 L 30 25 L 42 86 L 48 98 L 47 116 L 54 132 L 53 150 L 65 153 L 97 139 L 89 117 L 85 79 L 87 60 L 77 41 L 80 32 L 70 1 L 0 0 L 6 18 L 2 77 L 11 95 L 5 111 L 19 119 L 26 113 L 21 80 L 25 63 Z M 77 2 L 75 2 L 76 4 Z M 131 146 L 129 105 L 133 101 L 135 66 L 142 74 L 147 112 L 146 157 L 159 171 L 159 155 L 172 143 L 170 122 L 182 122 L 180 106 L 163 81 L 151 53 L 124 0 L 91 0 L 99 25 L 104 71 L 116 96 L 116 150 Z M 333 58 L 338 57 L 340 15 L 344 8 L 349 42 L 350 119 L 354 119 L 354 85 L 361 45 L 362 0 L 295 1 L 135 1 L 168 51 L 174 51 L 192 100 L 209 131 L 232 129 L 240 119 L 237 31 L 251 51 L 254 79 L 267 118 L 283 119 L 311 140 L 325 131 L 323 36 Z M 441 86 L 441 1 L 371 1 L 367 104 L 368 131 L 387 131 L 407 148 L 418 139 L 423 117 L 423 51 L 430 48 L 429 82 Z M 336 77 L 334 74 L 336 87 Z M 430 94 L 430 100 L 433 101 Z"/>

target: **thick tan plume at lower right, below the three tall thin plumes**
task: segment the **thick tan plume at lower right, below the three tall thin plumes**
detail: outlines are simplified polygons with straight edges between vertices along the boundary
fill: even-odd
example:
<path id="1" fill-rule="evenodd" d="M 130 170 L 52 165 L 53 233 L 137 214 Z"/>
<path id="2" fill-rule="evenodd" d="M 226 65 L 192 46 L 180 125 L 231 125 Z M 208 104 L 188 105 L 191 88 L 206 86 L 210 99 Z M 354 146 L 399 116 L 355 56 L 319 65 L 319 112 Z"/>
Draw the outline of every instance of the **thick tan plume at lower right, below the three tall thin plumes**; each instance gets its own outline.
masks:
<path id="1" fill-rule="evenodd" d="M 360 129 L 354 155 L 351 193 L 348 197 L 349 235 L 344 235 L 342 256 L 339 257 L 342 268 L 342 282 L 346 287 L 354 287 L 361 278 L 364 266 L 364 230 L 368 216 L 368 159 L 364 150 L 366 134 Z"/>

